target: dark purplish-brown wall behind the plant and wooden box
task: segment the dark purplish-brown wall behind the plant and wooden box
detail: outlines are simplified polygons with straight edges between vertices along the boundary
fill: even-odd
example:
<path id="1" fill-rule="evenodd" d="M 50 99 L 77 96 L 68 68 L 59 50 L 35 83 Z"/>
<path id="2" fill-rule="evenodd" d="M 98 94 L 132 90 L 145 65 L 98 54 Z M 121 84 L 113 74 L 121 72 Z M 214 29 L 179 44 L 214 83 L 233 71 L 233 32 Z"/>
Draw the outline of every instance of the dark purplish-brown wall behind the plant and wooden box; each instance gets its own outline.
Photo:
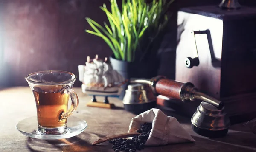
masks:
<path id="1" fill-rule="evenodd" d="M 120 3 L 122 0 L 118 0 Z M 221 0 L 176 0 L 168 31 L 159 50 L 159 74 L 175 79 L 177 10 L 188 6 L 218 5 Z M 40 70 L 66 70 L 78 75 L 87 56 L 110 56 L 105 42 L 84 32 L 85 20 L 106 21 L 99 9 L 109 0 L 0 0 L 0 87 L 28 86 L 24 77 Z M 239 0 L 256 6 L 256 0 Z M 80 87 L 77 79 L 75 87 Z"/>

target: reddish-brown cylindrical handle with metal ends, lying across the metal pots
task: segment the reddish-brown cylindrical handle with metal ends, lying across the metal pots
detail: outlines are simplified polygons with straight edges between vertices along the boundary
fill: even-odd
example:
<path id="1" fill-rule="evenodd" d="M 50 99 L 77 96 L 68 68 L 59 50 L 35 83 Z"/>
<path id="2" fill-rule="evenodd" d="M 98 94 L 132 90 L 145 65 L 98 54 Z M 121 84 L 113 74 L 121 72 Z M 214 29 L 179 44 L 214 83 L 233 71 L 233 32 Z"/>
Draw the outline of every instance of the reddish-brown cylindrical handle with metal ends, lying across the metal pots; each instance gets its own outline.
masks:
<path id="1" fill-rule="evenodd" d="M 150 84 L 151 89 L 156 96 L 162 95 L 181 101 L 194 101 L 195 99 L 200 99 L 219 109 L 224 106 L 223 102 L 199 92 L 198 89 L 194 87 L 194 84 L 190 82 L 177 82 L 175 80 L 166 79 L 164 76 L 156 76 L 150 81 L 133 80 L 132 82 Z"/>

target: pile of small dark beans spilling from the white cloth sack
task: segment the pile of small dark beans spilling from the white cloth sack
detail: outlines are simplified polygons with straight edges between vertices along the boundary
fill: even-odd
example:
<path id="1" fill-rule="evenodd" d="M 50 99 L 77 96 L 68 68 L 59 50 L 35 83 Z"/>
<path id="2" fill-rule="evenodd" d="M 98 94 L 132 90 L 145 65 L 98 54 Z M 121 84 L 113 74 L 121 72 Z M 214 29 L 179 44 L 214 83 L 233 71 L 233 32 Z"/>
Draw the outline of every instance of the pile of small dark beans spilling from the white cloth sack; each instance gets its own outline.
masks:
<path id="1" fill-rule="evenodd" d="M 113 144 L 112 149 L 115 152 L 136 152 L 136 150 L 144 149 L 144 144 L 148 140 L 151 129 L 152 123 L 144 123 L 141 125 L 140 129 L 137 130 L 141 135 L 134 135 L 132 139 L 113 139 L 109 142 Z"/>

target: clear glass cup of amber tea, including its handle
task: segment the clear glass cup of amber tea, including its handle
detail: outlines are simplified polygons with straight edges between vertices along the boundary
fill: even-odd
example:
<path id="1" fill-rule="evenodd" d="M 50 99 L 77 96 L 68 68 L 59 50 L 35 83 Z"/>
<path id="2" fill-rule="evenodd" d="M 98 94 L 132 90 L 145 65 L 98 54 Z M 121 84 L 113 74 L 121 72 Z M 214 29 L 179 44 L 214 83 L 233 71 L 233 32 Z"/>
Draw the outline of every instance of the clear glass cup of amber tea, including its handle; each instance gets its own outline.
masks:
<path id="1" fill-rule="evenodd" d="M 51 70 L 26 76 L 37 108 L 39 134 L 63 134 L 67 131 L 67 118 L 76 110 L 78 97 L 73 87 L 76 75 L 66 71 Z M 68 101 L 71 107 L 68 110 Z"/>

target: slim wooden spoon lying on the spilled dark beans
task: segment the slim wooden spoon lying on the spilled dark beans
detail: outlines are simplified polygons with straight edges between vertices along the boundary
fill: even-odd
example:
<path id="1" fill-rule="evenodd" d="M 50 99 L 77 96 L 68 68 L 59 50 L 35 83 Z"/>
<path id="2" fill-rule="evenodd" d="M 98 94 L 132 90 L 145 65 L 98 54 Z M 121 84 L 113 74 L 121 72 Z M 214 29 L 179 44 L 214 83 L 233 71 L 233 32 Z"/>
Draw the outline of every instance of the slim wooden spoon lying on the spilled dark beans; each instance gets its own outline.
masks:
<path id="1" fill-rule="evenodd" d="M 129 132 L 129 133 L 124 133 L 124 134 L 119 134 L 119 135 L 110 135 L 110 136 L 106 136 L 106 137 L 103 137 L 103 138 L 99 138 L 99 140 L 94 141 L 92 145 L 100 144 L 100 143 L 103 143 L 105 141 L 110 141 L 112 139 L 132 137 L 134 135 L 140 135 L 140 134 L 141 133 L 138 133 L 137 130 L 135 130 L 135 131 Z"/>

